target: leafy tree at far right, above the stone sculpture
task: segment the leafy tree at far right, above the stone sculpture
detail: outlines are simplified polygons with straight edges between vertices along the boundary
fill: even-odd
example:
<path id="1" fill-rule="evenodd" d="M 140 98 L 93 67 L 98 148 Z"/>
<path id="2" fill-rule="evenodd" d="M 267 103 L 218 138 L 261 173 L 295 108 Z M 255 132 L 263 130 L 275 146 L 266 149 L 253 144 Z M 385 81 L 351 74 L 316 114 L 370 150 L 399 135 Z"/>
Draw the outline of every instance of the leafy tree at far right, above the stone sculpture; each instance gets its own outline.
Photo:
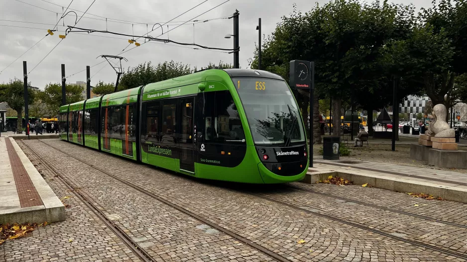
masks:
<path id="1" fill-rule="evenodd" d="M 399 76 L 422 87 L 433 105 L 449 108 L 459 100 L 453 89 L 456 77 L 467 73 L 466 24 L 467 1 L 433 0 L 433 7 L 421 9 L 410 37 L 388 45 Z"/>

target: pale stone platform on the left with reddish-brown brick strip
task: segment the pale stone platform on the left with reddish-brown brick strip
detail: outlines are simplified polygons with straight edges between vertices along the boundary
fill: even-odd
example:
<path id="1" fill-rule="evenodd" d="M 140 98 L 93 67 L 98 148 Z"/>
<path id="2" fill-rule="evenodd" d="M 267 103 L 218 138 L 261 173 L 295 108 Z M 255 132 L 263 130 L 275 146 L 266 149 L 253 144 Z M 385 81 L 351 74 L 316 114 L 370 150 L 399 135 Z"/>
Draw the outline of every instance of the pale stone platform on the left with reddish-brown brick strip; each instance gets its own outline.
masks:
<path id="1" fill-rule="evenodd" d="M 11 137 L 0 137 L 0 224 L 65 220 L 65 206 Z"/>

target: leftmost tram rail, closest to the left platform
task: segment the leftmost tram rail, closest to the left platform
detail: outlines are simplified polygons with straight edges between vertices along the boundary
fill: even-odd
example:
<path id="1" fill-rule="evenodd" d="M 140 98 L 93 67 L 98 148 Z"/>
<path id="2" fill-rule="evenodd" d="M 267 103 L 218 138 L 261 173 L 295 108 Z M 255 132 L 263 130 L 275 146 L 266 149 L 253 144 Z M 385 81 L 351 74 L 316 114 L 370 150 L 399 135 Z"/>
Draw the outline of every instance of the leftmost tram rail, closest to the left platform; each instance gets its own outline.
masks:
<path id="1" fill-rule="evenodd" d="M 128 236 L 120 227 L 118 227 L 115 223 L 112 222 L 105 214 L 102 212 L 96 205 L 94 205 L 83 193 L 77 190 L 77 187 L 73 185 L 72 182 L 69 181 L 66 176 L 59 174 L 55 168 L 44 158 L 40 157 L 29 145 L 21 141 L 22 144 L 34 155 L 37 160 L 44 163 L 47 169 L 49 169 L 55 177 L 58 177 L 60 182 L 65 185 L 71 192 L 81 201 L 83 202 L 94 214 L 96 214 L 101 221 L 115 234 L 121 241 L 135 254 L 141 261 L 143 262 L 155 262 L 156 259 L 151 257 L 144 249 L 139 247 L 139 245 L 134 242 L 130 236 Z"/>

